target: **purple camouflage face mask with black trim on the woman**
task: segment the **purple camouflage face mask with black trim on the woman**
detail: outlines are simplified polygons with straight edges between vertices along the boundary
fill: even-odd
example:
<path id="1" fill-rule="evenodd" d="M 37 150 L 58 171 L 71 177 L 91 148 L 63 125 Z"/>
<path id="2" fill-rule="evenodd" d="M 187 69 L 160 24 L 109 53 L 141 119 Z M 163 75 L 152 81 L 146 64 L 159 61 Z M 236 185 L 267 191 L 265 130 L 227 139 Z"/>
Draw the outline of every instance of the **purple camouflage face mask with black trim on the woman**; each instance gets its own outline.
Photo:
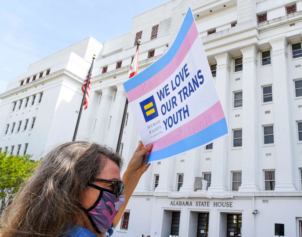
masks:
<path id="1" fill-rule="evenodd" d="M 111 227 L 118 210 L 125 203 L 124 194 L 116 197 L 115 194 L 105 190 L 100 190 L 97 205 L 94 204 L 86 210 L 90 223 L 98 233 L 104 233 Z"/>

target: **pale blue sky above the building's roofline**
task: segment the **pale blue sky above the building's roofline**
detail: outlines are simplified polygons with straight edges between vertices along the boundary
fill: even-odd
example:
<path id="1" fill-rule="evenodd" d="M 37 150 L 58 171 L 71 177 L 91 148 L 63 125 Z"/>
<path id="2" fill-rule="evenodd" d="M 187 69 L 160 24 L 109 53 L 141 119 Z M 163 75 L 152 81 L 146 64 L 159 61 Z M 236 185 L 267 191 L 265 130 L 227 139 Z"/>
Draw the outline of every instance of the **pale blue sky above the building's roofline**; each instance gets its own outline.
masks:
<path id="1" fill-rule="evenodd" d="M 132 18 L 168 0 L 2 1 L 0 94 L 26 65 L 89 36 L 105 42 L 130 31 Z"/>

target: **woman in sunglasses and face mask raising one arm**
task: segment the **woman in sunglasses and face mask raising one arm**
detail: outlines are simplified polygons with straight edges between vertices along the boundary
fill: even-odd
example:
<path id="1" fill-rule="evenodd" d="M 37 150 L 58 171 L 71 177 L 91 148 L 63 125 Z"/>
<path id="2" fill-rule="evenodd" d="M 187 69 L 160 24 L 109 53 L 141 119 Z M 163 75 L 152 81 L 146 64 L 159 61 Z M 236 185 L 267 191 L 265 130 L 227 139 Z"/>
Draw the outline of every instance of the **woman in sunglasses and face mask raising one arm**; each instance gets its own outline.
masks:
<path id="1" fill-rule="evenodd" d="M 111 149 L 83 141 L 54 148 L 6 208 L 0 236 L 110 236 L 151 149 L 140 142 L 121 179 Z"/>

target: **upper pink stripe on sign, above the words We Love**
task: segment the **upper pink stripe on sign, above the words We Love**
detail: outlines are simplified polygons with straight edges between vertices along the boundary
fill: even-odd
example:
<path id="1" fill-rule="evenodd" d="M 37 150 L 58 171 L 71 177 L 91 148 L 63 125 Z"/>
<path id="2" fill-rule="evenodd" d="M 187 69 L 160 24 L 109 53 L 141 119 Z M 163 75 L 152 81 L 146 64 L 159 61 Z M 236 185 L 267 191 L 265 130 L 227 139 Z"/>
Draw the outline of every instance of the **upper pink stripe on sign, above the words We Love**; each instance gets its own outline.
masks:
<path id="1" fill-rule="evenodd" d="M 184 60 L 185 56 L 188 54 L 197 36 L 198 36 L 198 30 L 195 22 L 193 21 L 188 31 L 188 34 L 184 38 L 184 41 L 179 47 L 174 58 L 167 64 L 167 66 L 163 68 L 163 70 L 161 70 L 156 75 L 146 80 L 144 83 L 128 91 L 127 97 L 129 102 L 136 100 L 137 98 L 148 93 L 150 90 L 153 90 L 154 88 L 158 87 L 161 83 L 163 83 L 163 81 L 165 81 L 169 76 L 171 76 L 172 73 L 175 72 L 177 67 Z"/>

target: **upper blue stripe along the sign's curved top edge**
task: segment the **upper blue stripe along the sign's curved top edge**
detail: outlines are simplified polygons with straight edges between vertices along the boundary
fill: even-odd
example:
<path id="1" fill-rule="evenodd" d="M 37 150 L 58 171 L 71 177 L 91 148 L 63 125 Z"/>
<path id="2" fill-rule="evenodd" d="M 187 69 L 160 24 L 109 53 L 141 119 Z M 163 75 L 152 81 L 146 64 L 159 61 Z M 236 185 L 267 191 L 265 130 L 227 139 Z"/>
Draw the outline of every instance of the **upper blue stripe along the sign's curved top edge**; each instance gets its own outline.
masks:
<path id="1" fill-rule="evenodd" d="M 193 23 L 194 17 L 191 11 L 191 7 L 189 7 L 188 12 L 184 18 L 184 21 L 181 25 L 181 28 L 171 45 L 171 48 L 165 53 L 160 59 L 154 62 L 152 65 L 147 67 L 145 70 L 140 72 L 139 74 L 135 75 L 128 81 L 124 83 L 125 91 L 128 92 L 133 88 L 139 86 L 140 84 L 144 83 L 146 80 L 151 78 L 152 76 L 156 75 L 159 71 L 161 71 L 167 64 L 174 58 L 178 49 L 180 48 L 184 38 L 188 34 L 188 31 Z"/>

